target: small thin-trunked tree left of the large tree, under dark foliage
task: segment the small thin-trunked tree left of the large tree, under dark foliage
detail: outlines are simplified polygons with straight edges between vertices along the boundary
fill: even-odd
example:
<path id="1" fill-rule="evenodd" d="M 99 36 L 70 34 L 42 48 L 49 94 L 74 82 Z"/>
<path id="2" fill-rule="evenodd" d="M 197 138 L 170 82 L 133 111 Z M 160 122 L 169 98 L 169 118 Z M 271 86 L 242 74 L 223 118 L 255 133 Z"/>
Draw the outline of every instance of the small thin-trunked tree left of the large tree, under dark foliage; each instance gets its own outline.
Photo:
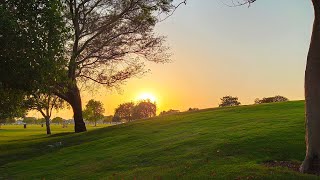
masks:
<path id="1" fill-rule="evenodd" d="M 50 118 L 52 116 L 53 109 L 61 109 L 64 106 L 64 101 L 58 96 L 52 94 L 33 94 L 28 97 L 29 109 L 37 110 L 41 113 L 46 120 L 47 134 L 51 134 Z"/>

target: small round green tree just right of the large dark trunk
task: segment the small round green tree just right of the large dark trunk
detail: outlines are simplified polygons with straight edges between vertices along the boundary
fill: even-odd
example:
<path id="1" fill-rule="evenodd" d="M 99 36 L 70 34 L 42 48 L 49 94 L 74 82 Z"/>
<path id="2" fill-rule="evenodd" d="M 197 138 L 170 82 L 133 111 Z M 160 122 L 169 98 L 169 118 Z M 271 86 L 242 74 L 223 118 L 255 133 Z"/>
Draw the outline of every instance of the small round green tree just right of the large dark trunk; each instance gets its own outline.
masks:
<path id="1" fill-rule="evenodd" d="M 86 105 L 83 115 L 86 120 L 94 122 L 94 126 L 97 126 L 97 121 L 104 117 L 103 113 L 104 108 L 102 103 L 91 99 Z"/>

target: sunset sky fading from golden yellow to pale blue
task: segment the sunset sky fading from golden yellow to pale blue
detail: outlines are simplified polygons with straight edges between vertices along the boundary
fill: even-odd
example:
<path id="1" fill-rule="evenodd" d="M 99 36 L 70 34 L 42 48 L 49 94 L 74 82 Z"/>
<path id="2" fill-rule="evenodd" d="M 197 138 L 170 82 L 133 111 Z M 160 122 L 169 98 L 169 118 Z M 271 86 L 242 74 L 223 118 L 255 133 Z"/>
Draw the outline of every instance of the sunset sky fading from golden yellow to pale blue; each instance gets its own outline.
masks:
<path id="1" fill-rule="evenodd" d="M 155 96 L 158 113 L 217 107 L 225 95 L 239 97 L 242 104 L 274 95 L 303 99 L 311 1 L 258 0 L 250 7 L 223 2 L 230 0 L 188 0 L 156 26 L 155 32 L 167 37 L 172 62 L 147 63 L 151 72 L 129 79 L 120 91 L 83 92 L 83 105 L 99 100 L 111 115 L 120 103 L 143 93 Z M 53 116 L 72 118 L 72 111 Z"/>

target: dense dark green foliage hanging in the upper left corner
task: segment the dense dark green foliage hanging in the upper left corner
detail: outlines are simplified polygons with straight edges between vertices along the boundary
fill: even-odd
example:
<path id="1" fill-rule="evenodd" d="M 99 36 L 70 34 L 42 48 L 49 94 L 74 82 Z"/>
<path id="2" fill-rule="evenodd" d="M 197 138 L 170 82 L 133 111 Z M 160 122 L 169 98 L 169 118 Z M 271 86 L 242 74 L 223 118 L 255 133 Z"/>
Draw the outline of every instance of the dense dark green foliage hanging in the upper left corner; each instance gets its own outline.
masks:
<path id="1" fill-rule="evenodd" d="M 58 0 L 0 3 L 0 83 L 24 91 L 44 90 L 62 75 L 65 22 Z"/>

